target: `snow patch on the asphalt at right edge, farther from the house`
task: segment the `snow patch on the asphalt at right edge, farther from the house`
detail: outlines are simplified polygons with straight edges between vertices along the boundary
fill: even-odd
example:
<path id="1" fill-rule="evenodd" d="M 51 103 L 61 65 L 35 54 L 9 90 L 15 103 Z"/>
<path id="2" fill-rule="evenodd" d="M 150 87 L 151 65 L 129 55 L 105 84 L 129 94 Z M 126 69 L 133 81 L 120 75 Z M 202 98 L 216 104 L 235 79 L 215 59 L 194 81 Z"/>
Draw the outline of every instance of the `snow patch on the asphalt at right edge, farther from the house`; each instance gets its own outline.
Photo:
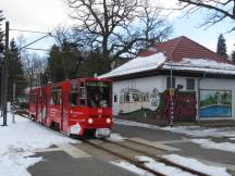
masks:
<path id="1" fill-rule="evenodd" d="M 191 142 L 200 144 L 206 149 L 217 149 L 222 151 L 235 152 L 235 143 L 232 142 L 214 142 L 211 139 L 190 139 Z"/>

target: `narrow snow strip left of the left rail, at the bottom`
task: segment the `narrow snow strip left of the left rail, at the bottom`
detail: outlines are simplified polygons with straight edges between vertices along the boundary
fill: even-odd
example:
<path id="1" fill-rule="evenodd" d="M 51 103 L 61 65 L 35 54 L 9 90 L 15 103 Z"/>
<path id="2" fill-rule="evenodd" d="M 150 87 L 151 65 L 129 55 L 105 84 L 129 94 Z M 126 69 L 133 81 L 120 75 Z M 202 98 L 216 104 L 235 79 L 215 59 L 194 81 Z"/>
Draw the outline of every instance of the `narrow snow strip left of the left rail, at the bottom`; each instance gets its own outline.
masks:
<path id="1" fill-rule="evenodd" d="M 138 174 L 141 176 L 153 176 L 151 173 L 148 173 L 141 168 L 136 167 L 135 165 L 126 162 L 126 161 L 120 161 L 120 162 L 110 162 L 111 164 L 114 164 L 116 166 L 120 166 L 122 168 L 125 168 L 134 174 Z"/>

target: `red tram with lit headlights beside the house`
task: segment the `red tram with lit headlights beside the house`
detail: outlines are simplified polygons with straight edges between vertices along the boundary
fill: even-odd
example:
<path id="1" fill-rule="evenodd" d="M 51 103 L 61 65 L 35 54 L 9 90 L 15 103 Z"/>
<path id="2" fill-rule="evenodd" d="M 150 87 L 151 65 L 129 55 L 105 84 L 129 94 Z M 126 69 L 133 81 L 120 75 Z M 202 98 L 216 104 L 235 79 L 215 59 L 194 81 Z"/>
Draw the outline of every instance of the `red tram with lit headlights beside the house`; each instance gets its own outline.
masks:
<path id="1" fill-rule="evenodd" d="M 67 135 L 110 136 L 112 81 L 77 78 L 38 87 L 29 92 L 28 116 Z"/>

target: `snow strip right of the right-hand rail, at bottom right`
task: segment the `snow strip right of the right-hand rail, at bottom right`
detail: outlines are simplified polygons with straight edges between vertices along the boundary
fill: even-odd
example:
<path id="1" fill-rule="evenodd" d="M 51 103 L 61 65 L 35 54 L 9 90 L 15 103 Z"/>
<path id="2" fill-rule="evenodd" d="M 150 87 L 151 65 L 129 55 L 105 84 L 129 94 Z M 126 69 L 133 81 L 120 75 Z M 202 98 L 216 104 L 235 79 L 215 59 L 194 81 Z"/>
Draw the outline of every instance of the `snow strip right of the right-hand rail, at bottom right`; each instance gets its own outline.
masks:
<path id="1" fill-rule="evenodd" d="M 170 154 L 170 155 L 163 155 L 163 158 L 184 165 L 186 167 L 193 168 L 195 171 L 199 171 L 201 173 L 208 174 L 208 175 L 213 175 L 213 176 L 231 176 L 230 174 L 226 173 L 225 167 L 217 167 L 217 166 L 209 166 L 206 165 L 195 159 L 188 159 L 188 158 L 183 158 L 177 154 Z"/>

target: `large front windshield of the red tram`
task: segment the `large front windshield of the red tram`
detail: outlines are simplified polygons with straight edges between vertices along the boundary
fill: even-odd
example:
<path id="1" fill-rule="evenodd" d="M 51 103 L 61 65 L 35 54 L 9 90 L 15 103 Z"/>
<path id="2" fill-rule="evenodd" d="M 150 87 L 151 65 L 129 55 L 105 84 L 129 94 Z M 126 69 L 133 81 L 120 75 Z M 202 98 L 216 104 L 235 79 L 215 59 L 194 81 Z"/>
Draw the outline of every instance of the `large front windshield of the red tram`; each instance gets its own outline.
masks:
<path id="1" fill-rule="evenodd" d="M 111 83 L 87 81 L 87 105 L 90 108 L 111 106 Z"/>

